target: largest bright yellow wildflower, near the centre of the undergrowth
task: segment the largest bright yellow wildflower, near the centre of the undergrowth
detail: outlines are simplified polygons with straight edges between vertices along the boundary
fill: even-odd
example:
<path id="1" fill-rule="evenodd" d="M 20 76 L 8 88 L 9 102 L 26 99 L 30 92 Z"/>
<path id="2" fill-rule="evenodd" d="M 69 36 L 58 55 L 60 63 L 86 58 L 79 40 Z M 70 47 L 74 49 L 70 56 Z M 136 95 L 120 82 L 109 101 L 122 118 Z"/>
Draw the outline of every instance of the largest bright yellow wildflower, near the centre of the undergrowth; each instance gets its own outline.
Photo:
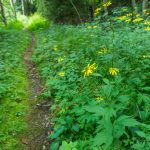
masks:
<path id="1" fill-rule="evenodd" d="M 94 70 L 96 70 L 96 64 L 88 64 L 84 69 L 83 69 L 83 73 L 84 73 L 84 78 L 89 76 L 90 74 L 92 74 L 94 72 Z"/>

